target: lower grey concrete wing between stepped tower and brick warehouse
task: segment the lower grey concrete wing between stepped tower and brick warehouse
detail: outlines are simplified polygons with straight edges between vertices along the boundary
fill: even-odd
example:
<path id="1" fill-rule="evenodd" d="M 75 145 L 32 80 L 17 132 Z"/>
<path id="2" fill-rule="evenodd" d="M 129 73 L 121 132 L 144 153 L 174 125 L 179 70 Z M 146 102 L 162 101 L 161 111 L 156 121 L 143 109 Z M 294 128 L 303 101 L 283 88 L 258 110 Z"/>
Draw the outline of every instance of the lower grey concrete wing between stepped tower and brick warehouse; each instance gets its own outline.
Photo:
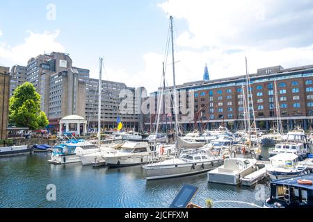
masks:
<path id="1" fill-rule="evenodd" d="M 86 81 L 86 119 L 88 128 L 97 128 L 98 118 L 98 84 L 99 80 L 89 78 Z M 124 91 L 123 91 L 124 90 Z M 103 129 L 116 128 L 118 123 L 116 119 L 119 116 L 125 128 L 143 128 L 143 119 L 141 119 L 141 91 L 144 87 L 135 89 L 127 87 L 125 83 L 102 80 L 102 104 L 101 119 Z M 124 99 L 122 92 L 129 92 L 130 105 L 127 113 L 120 110 L 120 103 Z"/>

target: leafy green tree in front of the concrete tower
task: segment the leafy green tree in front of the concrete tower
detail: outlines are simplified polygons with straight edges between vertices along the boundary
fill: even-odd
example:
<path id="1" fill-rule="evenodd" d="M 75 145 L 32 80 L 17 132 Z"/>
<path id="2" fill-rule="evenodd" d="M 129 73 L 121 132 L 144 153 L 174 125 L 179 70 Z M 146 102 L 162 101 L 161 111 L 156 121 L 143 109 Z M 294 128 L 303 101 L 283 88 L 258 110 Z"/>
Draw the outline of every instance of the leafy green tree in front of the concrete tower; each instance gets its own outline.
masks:
<path id="1" fill-rule="evenodd" d="M 40 111 L 40 94 L 35 92 L 33 84 L 26 82 L 14 90 L 9 104 L 9 121 L 31 130 L 49 124 L 45 112 Z"/>

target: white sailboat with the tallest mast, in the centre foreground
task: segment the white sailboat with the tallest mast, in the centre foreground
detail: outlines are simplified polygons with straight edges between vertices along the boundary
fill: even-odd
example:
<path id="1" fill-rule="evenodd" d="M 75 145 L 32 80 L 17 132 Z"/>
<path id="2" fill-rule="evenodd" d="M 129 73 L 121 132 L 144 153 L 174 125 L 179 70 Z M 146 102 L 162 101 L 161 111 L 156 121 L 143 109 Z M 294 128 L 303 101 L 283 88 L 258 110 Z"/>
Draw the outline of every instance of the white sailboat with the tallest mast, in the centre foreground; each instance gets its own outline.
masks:
<path id="1" fill-rule="evenodd" d="M 175 85 L 175 59 L 174 59 L 174 41 L 173 41 L 173 28 L 172 16 L 170 16 L 170 37 L 172 42 L 172 73 L 173 73 L 173 94 L 176 94 Z M 219 167 L 223 164 L 220 157 L 210 155 L 204 150 L 197 149 L 197 145 L 203 146 L 202 142 L 186 142 L 184 139 L 178 137 L 178 114 L 177 114 L 177 101 L 174 97 L 173 105 L 175 109 L 175 148 L 178 150 L 179 146 L 186 148 L 192 146 L 191 150 L 185 150 L 177 157 L 162 162 L 147 164 L 143 166 L 145 170 L 145 178 L 147 180 L 155 180 L 162 178 L 173 178 L 178 176 L 187 176 L 196 173 L 207 172 L 211 169 Z"/>

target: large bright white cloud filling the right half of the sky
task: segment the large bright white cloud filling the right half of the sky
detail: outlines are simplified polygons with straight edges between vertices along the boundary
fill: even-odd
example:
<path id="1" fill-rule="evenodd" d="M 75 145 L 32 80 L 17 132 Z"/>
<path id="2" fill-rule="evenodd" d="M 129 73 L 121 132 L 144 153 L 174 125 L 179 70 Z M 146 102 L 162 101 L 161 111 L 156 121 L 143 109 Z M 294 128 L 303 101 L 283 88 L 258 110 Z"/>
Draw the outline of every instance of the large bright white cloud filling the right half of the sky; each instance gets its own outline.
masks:
<path id="1" fill-rule="evenodd" d="M 174 20 L 188 24 L 187 30 L 175 27 L 180 32 L 175 33 L 175 60 L 180 61 L 177 84 L 202 80 L 205 63 L 211 79 L 243 75 L 246 56 L 250 73 L 274 65 L 287 68 L 313 63 L 312 1 L 168 0 L 159 7 Z M 144 58 L 145 70 L 136 77 L 152 92 L 159 87 L 163 57 L 148 53 Z"/>

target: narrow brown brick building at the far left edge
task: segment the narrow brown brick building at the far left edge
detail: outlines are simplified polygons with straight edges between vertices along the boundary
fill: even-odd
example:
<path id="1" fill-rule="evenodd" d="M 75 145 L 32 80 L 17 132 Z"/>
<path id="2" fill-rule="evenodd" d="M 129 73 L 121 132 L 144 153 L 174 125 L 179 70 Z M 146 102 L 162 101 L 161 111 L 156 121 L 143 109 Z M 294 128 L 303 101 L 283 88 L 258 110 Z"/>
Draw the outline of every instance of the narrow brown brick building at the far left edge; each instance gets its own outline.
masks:
<path id="1" fill-rule="evenodd" d="M 10 99 L 10 72 L 8 67 L 0 67 L 0 139 L 6 139 L 8 127 L 8 104 Z"/>

